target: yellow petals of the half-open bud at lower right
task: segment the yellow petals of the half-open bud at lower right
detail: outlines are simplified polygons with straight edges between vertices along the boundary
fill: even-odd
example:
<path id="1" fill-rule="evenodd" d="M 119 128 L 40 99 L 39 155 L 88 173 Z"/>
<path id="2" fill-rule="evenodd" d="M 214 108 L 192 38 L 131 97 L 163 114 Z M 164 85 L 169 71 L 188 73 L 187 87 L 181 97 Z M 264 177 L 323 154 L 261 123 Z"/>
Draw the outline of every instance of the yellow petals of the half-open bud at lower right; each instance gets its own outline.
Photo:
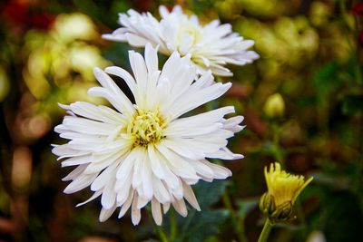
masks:
<path id="1" fill-rule="evenodd" d="M 276 207 L 285 202 L 293 204 L 299 193 L 304 189 L 312 178 L 304 181 L 303 176 L 289 174 L 281 170 L 279 163 L 270 165 L 270 170 L 265 168 L 265 178 L 268 187 L 268 193 L 273 196 Z"/>

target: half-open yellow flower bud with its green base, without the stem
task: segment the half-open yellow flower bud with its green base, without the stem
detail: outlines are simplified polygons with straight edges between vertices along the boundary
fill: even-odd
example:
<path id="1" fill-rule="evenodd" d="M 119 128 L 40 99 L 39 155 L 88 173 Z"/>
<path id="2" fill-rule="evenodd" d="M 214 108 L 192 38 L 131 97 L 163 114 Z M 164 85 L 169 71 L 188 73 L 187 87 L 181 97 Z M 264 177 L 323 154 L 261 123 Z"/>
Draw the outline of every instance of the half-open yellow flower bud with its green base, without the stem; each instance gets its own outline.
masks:
<path id="1" fill-rule="evenodd" d="M 275 162 L 270 164 L 270 170 L 265 167 L 265 179 L 268 191 L 260 199 L 260 209 L 276 222 L 292 218 L 296 198 L 313 178 L 305 181 L 301 175 L 281 170 L 280 163 Z"/>

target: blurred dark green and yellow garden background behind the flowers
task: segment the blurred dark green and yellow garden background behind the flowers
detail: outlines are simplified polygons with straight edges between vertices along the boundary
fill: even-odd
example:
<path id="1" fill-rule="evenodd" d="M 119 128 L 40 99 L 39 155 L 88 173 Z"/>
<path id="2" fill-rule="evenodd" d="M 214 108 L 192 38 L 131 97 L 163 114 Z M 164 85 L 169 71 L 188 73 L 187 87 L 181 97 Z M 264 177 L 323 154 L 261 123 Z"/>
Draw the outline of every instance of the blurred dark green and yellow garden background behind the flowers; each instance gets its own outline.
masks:
<path id="1" fill-rule="evenodd" d="M 348 0 L 95 1 L 2 0 L 0 3 L 0 241 L 257 241 L 263 167 L 280 161 L 313 176 L 296 204 L 298 218 L 273 228 L 270 241 L 362 241 L 363 4 Z M 129 70 L 128 44 L 104 41 L 133 8 L 159 17 L 158 5 L 182 5 L 201 23 L 219 18 L 255 40 L 260 59 L 229 66 L 233 86 L 219 102 L 234 105 L 247 128 L 231 139 L 243 160 L 222 161 L 233 177 L 194 186 L 201 212 L 173 211 L 156 229 L 113 216 L 100 223 L 100 201 L 74 206 L 51 153 L 62 143 L 57 103 L 102 103 L 86 91 L 93 67 Z M 140 51 L 140 50 L 138 50 Z M 211 107 L 205 107 L 206 109 Z M 176 225 L 171 224 L 175 221 Z M 176 228 L 176 229 L 175 229 Z"/>

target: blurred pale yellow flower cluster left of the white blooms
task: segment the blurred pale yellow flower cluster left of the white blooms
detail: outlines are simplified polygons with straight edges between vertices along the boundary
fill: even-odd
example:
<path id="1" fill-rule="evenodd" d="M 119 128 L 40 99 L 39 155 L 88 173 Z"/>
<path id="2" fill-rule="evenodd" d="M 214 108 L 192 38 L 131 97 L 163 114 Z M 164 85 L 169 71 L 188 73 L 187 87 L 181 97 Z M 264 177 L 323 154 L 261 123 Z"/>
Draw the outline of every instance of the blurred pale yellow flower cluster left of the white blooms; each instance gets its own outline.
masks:
<path id="1" fill-rule="evenodd" d="M 80 13 L 58 15 L 47 33 L 31 30 L 25 34 L 28 60 L 23 77 L 41 107 L 36 111 L 57 113 L 56 102 L 74 98 L 91 101 L 85 90 L 95 81 L 93 67 L 111 64 L 92 44 L 99 35 L 92 19 Z"/>

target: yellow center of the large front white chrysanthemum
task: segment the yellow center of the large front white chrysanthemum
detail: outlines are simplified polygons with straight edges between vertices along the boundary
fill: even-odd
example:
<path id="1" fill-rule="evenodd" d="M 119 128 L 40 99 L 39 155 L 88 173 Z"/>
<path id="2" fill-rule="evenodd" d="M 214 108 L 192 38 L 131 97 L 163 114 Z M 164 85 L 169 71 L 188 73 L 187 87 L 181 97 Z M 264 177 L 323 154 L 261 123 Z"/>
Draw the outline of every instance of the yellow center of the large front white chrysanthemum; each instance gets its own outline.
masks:
<path id="1" fill-rule="evenodd" d="M 168 123 L 159 111 L 136 109 L 132 122 L 127 126 L 127 133 L 134 139 L 133 147 L 146 148 L 149 144 L 156 144 L 163 138 L 162 131 Z"/>

